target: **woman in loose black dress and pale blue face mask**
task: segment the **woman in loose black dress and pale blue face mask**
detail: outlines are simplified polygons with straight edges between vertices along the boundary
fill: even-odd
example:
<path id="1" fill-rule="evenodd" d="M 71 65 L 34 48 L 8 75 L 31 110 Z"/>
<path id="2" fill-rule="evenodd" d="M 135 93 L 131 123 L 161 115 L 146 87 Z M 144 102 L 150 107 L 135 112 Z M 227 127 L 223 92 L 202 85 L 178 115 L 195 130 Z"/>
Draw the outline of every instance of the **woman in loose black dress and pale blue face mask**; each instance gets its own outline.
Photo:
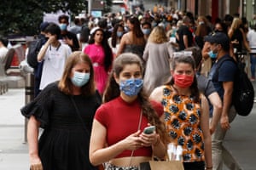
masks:
<path id="1" fill-rule="evenodd" d="M 88 55 L 73 52 L 59 82 L 49 84 L 20 111 L 29 118 L 31 169 L 96 169 L 89 161 L 90 130 L 101 105 Z M 44 128 L 38 141 L 38 128 Z"/>

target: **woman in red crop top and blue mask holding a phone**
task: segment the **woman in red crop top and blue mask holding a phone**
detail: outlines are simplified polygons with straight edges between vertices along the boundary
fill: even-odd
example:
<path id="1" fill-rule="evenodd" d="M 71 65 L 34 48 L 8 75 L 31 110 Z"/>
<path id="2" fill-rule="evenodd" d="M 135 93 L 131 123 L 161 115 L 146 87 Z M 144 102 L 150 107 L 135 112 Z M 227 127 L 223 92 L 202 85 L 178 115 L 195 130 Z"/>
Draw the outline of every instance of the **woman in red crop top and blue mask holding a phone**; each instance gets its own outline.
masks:
<path id="1" fill-rule="evenodd" d="M 143 92 L 143 64 L 136 54 L 121 54 L 114 60 L 103 98 L 91 132 L 93 165 L 108 162 L 105 169 L 137 170 L 152 156 L 166 155 L 165 126 L 159 118 L 163 110 Z M 154 133 L 143 133 L 150 125 L 156 127 Z"/>

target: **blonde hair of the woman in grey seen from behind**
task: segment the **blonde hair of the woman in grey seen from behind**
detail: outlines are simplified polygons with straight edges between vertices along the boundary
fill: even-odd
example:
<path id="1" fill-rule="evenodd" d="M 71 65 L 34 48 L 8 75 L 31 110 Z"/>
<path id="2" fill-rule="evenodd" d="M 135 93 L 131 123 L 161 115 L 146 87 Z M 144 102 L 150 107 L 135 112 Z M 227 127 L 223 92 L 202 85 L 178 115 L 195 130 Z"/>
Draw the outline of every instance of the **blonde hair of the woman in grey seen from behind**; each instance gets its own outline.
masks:
<path id="1" fill-rule="evenodd" d="M 153 31 L 150 33 L 148 37 L 148 42 L 154 42 L 154 43 L 168 42 L 165 29 L 162 26 L 155 26 Z"/>

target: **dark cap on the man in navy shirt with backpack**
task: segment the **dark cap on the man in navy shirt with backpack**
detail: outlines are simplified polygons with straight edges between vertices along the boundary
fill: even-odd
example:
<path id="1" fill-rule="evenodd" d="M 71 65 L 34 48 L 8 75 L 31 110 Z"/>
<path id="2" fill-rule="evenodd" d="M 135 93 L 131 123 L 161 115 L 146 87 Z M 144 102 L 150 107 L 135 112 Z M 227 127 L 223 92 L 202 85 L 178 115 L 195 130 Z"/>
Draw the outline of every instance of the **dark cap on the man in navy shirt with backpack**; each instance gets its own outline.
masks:
<path id="1" fill-rule="evenodd" d="M 223 32 L 213 32 L 211 35 L 205 37 L 205 41 L 218 43 L 224 46 L 230 44 L 230 38 Z"/>

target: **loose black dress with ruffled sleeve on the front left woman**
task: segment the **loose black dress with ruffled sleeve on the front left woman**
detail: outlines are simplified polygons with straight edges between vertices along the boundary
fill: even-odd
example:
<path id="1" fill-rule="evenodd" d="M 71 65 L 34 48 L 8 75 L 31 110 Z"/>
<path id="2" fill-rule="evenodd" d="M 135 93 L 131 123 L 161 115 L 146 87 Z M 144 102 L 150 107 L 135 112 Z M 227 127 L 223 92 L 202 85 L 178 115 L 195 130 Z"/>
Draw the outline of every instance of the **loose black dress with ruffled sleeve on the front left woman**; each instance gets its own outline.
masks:
<path id="1" fill-rule="evenodd" d="M 75 112 L 71 97 L 79 108 L 83 123 Z M 56 83 L 51 83 L 20 110 L 23 116 L 35 116 L 44 128 L 38 144 L 44 170 L 96 169 L 89 161 L 89 143 L 93 117 L 99 105 L 99 95 L 70 96 L 63 94 Z"/>

